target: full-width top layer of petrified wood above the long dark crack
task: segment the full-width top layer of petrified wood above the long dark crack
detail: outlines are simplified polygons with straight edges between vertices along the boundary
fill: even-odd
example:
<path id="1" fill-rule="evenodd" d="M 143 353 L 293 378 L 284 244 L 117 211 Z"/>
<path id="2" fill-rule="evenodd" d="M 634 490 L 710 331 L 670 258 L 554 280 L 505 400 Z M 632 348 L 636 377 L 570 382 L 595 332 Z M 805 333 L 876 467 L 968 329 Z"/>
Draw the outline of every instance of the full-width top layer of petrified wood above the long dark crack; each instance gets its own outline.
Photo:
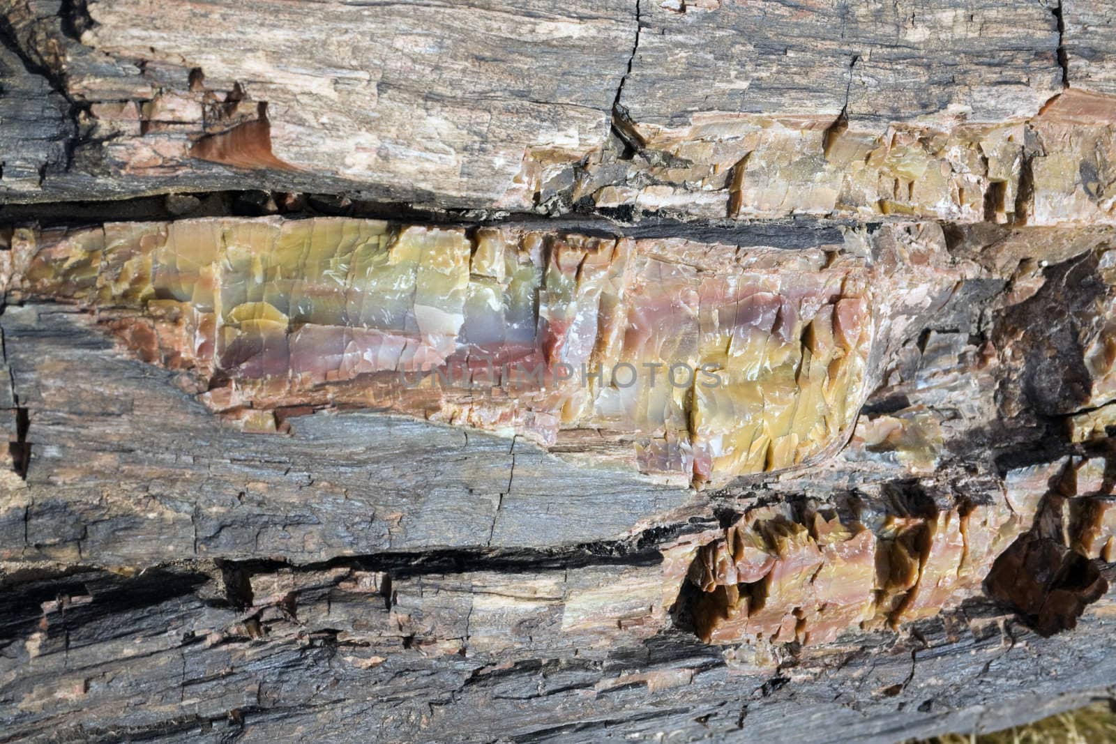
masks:
<path id="1" fill-rule="evenodd" d="M 1112 4 L 3 0 L 0 190 L 1110 223 Z"/>

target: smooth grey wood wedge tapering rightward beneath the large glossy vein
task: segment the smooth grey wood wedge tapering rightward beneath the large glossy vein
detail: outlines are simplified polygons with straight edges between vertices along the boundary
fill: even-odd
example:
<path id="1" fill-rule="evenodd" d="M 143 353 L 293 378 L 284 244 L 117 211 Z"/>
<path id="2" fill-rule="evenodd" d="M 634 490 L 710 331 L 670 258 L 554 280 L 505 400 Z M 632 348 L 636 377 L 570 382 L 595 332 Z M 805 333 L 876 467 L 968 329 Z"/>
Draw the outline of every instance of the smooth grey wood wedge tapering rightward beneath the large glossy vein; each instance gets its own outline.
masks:
<path id="1" fill-rule="evenodd" d="M 434 548 L 619 539 L 693 500 L 623 467 L 367 413 L 300 417 L 290 437 L 222 424 L 173 373 L 113 349 L 88 316 L 9 308 L 8 369 L 31 458 L 0 516 L 6 560 L 145 566 L 295 562 Z"/>

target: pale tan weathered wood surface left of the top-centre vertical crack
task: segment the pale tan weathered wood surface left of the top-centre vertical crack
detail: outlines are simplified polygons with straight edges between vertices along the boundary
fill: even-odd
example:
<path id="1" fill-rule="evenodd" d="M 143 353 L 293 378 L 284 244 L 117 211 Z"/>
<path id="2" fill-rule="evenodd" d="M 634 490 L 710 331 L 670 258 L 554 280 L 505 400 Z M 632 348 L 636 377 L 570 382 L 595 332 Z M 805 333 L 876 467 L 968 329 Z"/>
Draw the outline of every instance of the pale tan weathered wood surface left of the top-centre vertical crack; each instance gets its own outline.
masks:
<path id="1" fill-rule="evenodd" d="M 103 196 L 262 178 L 443 206 L 520 204 L 529 153 L 574 162 L 603 146 L 635 33 L 634 4 L 620 0 L 585 10 L 10 0 L 0 11 L 85 113 L 77 164 L 44 187 Z M 254 122 L 267 126 L 192 149 Z M 9 199 L 35 199 L 26 184 L 2 185 Z"/>

